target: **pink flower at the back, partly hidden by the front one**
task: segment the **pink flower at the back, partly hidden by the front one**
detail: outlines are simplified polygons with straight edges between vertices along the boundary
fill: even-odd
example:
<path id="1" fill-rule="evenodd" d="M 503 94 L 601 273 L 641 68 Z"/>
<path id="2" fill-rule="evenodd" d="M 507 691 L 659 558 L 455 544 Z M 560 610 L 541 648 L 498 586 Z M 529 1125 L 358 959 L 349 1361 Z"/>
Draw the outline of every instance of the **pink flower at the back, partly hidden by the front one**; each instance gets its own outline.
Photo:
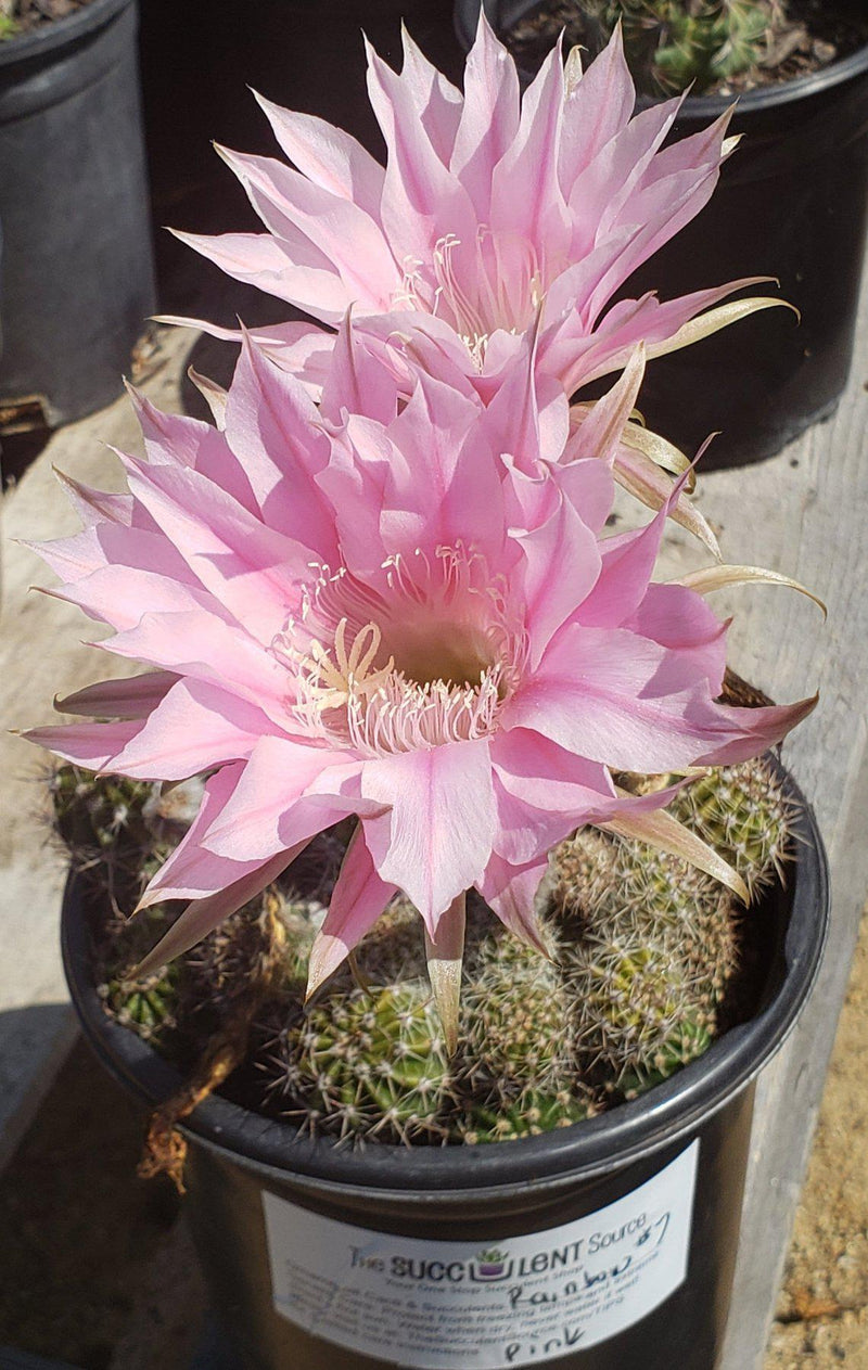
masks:
<path id="1" fill-rule="evenodd" d="M 750 284 L 607 308 L 705 206 L 728 152 L 728 115 L 666 148 L 680 100 L 631 118 L 620 32 L 584 74 L 579 49 L 566 70 L 553 52 L 522 100 L 513 59 L 484 16 L 463 96 L 405 34 L 400 75 L 369 51 L 369 90 L 385 169 L 340 129 L 262 100 L 295 170 L 222 155 L 267 233 L 180 236 L 324 323 L 352 307 L 363 326 L 377 321 L 380 336 L 425 332 L 484 395 L 532 326 L 539 367 L 572 393 L 623 366 L 640 340 L 653 356 L 712 332 L 727 310 L 690 321 Z M 742 301 L 732 316 L 753 307 Z M 332 345 L 299 323 L 261 330 L 261 340 L 313 381 Z"/>

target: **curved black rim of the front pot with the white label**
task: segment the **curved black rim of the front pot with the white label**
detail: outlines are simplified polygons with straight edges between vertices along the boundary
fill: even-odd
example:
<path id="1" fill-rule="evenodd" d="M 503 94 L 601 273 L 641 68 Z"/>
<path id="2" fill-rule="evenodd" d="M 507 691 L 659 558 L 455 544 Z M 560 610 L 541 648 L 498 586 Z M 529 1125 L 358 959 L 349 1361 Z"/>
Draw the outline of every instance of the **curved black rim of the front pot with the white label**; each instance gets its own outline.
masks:
<path id="1" fill-rule="evenodd" d="M 300 1191 L 365 1193 L 422 1203 L 432 1191 L 470 1201 L 543 1186 L 591 1180 L 687 1137 L 695 1125 L 750 1085 L 793 1030 L 820 966 L 828 927 L 830 885 L 823 840 L 801 790 L 775 762 L 787 800 L 795 860 L 786 933 L 758 1012 L 719 1037 L 697 1060 L 638 1099 L 569 1128 L 538 1137 L 487 1144 L 385 1145 L 351 1148 L 332 1137 L 302 1137 L 288 1122 L 254 1114 L 211 1095 L 181 1129 L 197 1145 L 229 1154 L 263 1177 L 291 1181 Z M 773 896 L 773 892 L 772 892 Z M 154 1048 L 104 1011 L 93 982 L 89 934 L 82 917 L 84 884 L 70 874 L 63 897 L 62 951 L 73 1003 L 86 1037 L 126 1088 L 158 1104 L 184 1077 Z M 396 1184 L 396 1169 L 402 1182 Z"/>

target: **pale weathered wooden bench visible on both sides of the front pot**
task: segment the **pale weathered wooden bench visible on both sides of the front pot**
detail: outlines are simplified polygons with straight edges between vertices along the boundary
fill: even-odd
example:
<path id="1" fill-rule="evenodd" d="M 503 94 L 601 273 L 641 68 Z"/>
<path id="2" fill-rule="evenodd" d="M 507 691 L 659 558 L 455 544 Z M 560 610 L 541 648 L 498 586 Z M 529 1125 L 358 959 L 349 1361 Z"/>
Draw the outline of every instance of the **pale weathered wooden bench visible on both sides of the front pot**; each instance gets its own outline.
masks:
<path id="1" fill-rule="evenodd" d="M 753 1134 L 753 1164 L 739 1255 L 734 1317 L 723 1370 L 758 1367 L 772 1317 L 799 1185 L 810 1147 L 835 1025 L 843 1000 L 858 914 L 868 893 L 868 760 L 865 675 L 868 595 L 868 292 L 852 379 L 836 416 L 760 466 L 701 477 L 701 507 L 716 526 L 731 562 L 757 562 L 808 584 L 830 606 L 816 607 L 793 592 L 745 588 L 714 597 L 734 612 L 735 669 L 777 700 L 820 689 L 816 712 L 784 748 L 784 760 L 812 799 L 831 866 L 834 915 L 825 964 L 815 996 L 788 1045 L 761 1081 Z M 178 404 L 178 379 L 191 334 L 163 342 L 162 370 L 145 385 L 166 408 Z M 207 370 L 207 367 L 203 367 Z M 4 499 L 5 584 L 0 633 L 4 722 L 45 722 L 55 692 L 93 678 L 106 658 L 81 649 L 92 636 L 69 606 L 27 593 L 49 578 L 12 537 L 49 537 L 75 521 L 52 480 L 56 463 L 80 480 L 111 484 L 114 459 L 100 445 L 136 443 L 125 401 L 55 436 L 49 448 Z M 664 573 L 706 564 L 708 558 L 676 529 L 665 547 Z M 82 632 L 84 629 L 84 632 Z M 118 664 L 125 670 L 123 663 Z M 0 793 L 0 918 L 15 960 L 0 958 L 0 1160 L 34 1107 L 40 1080 L 58 1052 L 66 993 L 56 954 L 63 863 L 37 826 L 40 775 L 36 751 L 0 737 L 0 762 L 11 782 Z M 16 1043 L 22 1019 L 47 1014 L 26 1059 Z M 60 1014 L 60 1018 L 56 1015 Z M 18 1037 L 21 1034 L 18 1033 Z M 40 1069 L 43 1075 L 40 1075 Z"/>

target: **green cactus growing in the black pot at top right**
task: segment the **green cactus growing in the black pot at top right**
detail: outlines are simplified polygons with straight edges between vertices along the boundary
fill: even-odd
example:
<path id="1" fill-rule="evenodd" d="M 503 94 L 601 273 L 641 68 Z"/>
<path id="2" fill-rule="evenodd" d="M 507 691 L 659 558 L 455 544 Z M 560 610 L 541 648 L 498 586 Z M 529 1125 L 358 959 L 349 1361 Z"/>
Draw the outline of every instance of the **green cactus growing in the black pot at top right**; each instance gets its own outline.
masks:
<path id="1" fill-rule="evenodd" d="M 634 77 L 649 95 L 677 95 L 756 70 L 786 25 L 780 0 L 586 0 L 610 34 L 618 21 Z"/>

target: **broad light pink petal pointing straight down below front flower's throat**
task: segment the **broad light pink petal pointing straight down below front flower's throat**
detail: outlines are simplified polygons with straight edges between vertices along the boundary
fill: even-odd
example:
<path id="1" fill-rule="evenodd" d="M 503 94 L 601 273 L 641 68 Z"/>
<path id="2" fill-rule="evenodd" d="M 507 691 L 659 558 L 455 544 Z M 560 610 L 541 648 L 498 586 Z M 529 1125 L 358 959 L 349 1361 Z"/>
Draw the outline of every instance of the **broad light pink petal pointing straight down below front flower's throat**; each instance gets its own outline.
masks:
<path id="1" fill-rule="evenodd" d="M 380 878 L 415 904 L 431 933 L 453 900 L 476 884 L 496 830 L 485 740 L 366 762 L 362 795 L 391 806 L 363 819 Z"/>

